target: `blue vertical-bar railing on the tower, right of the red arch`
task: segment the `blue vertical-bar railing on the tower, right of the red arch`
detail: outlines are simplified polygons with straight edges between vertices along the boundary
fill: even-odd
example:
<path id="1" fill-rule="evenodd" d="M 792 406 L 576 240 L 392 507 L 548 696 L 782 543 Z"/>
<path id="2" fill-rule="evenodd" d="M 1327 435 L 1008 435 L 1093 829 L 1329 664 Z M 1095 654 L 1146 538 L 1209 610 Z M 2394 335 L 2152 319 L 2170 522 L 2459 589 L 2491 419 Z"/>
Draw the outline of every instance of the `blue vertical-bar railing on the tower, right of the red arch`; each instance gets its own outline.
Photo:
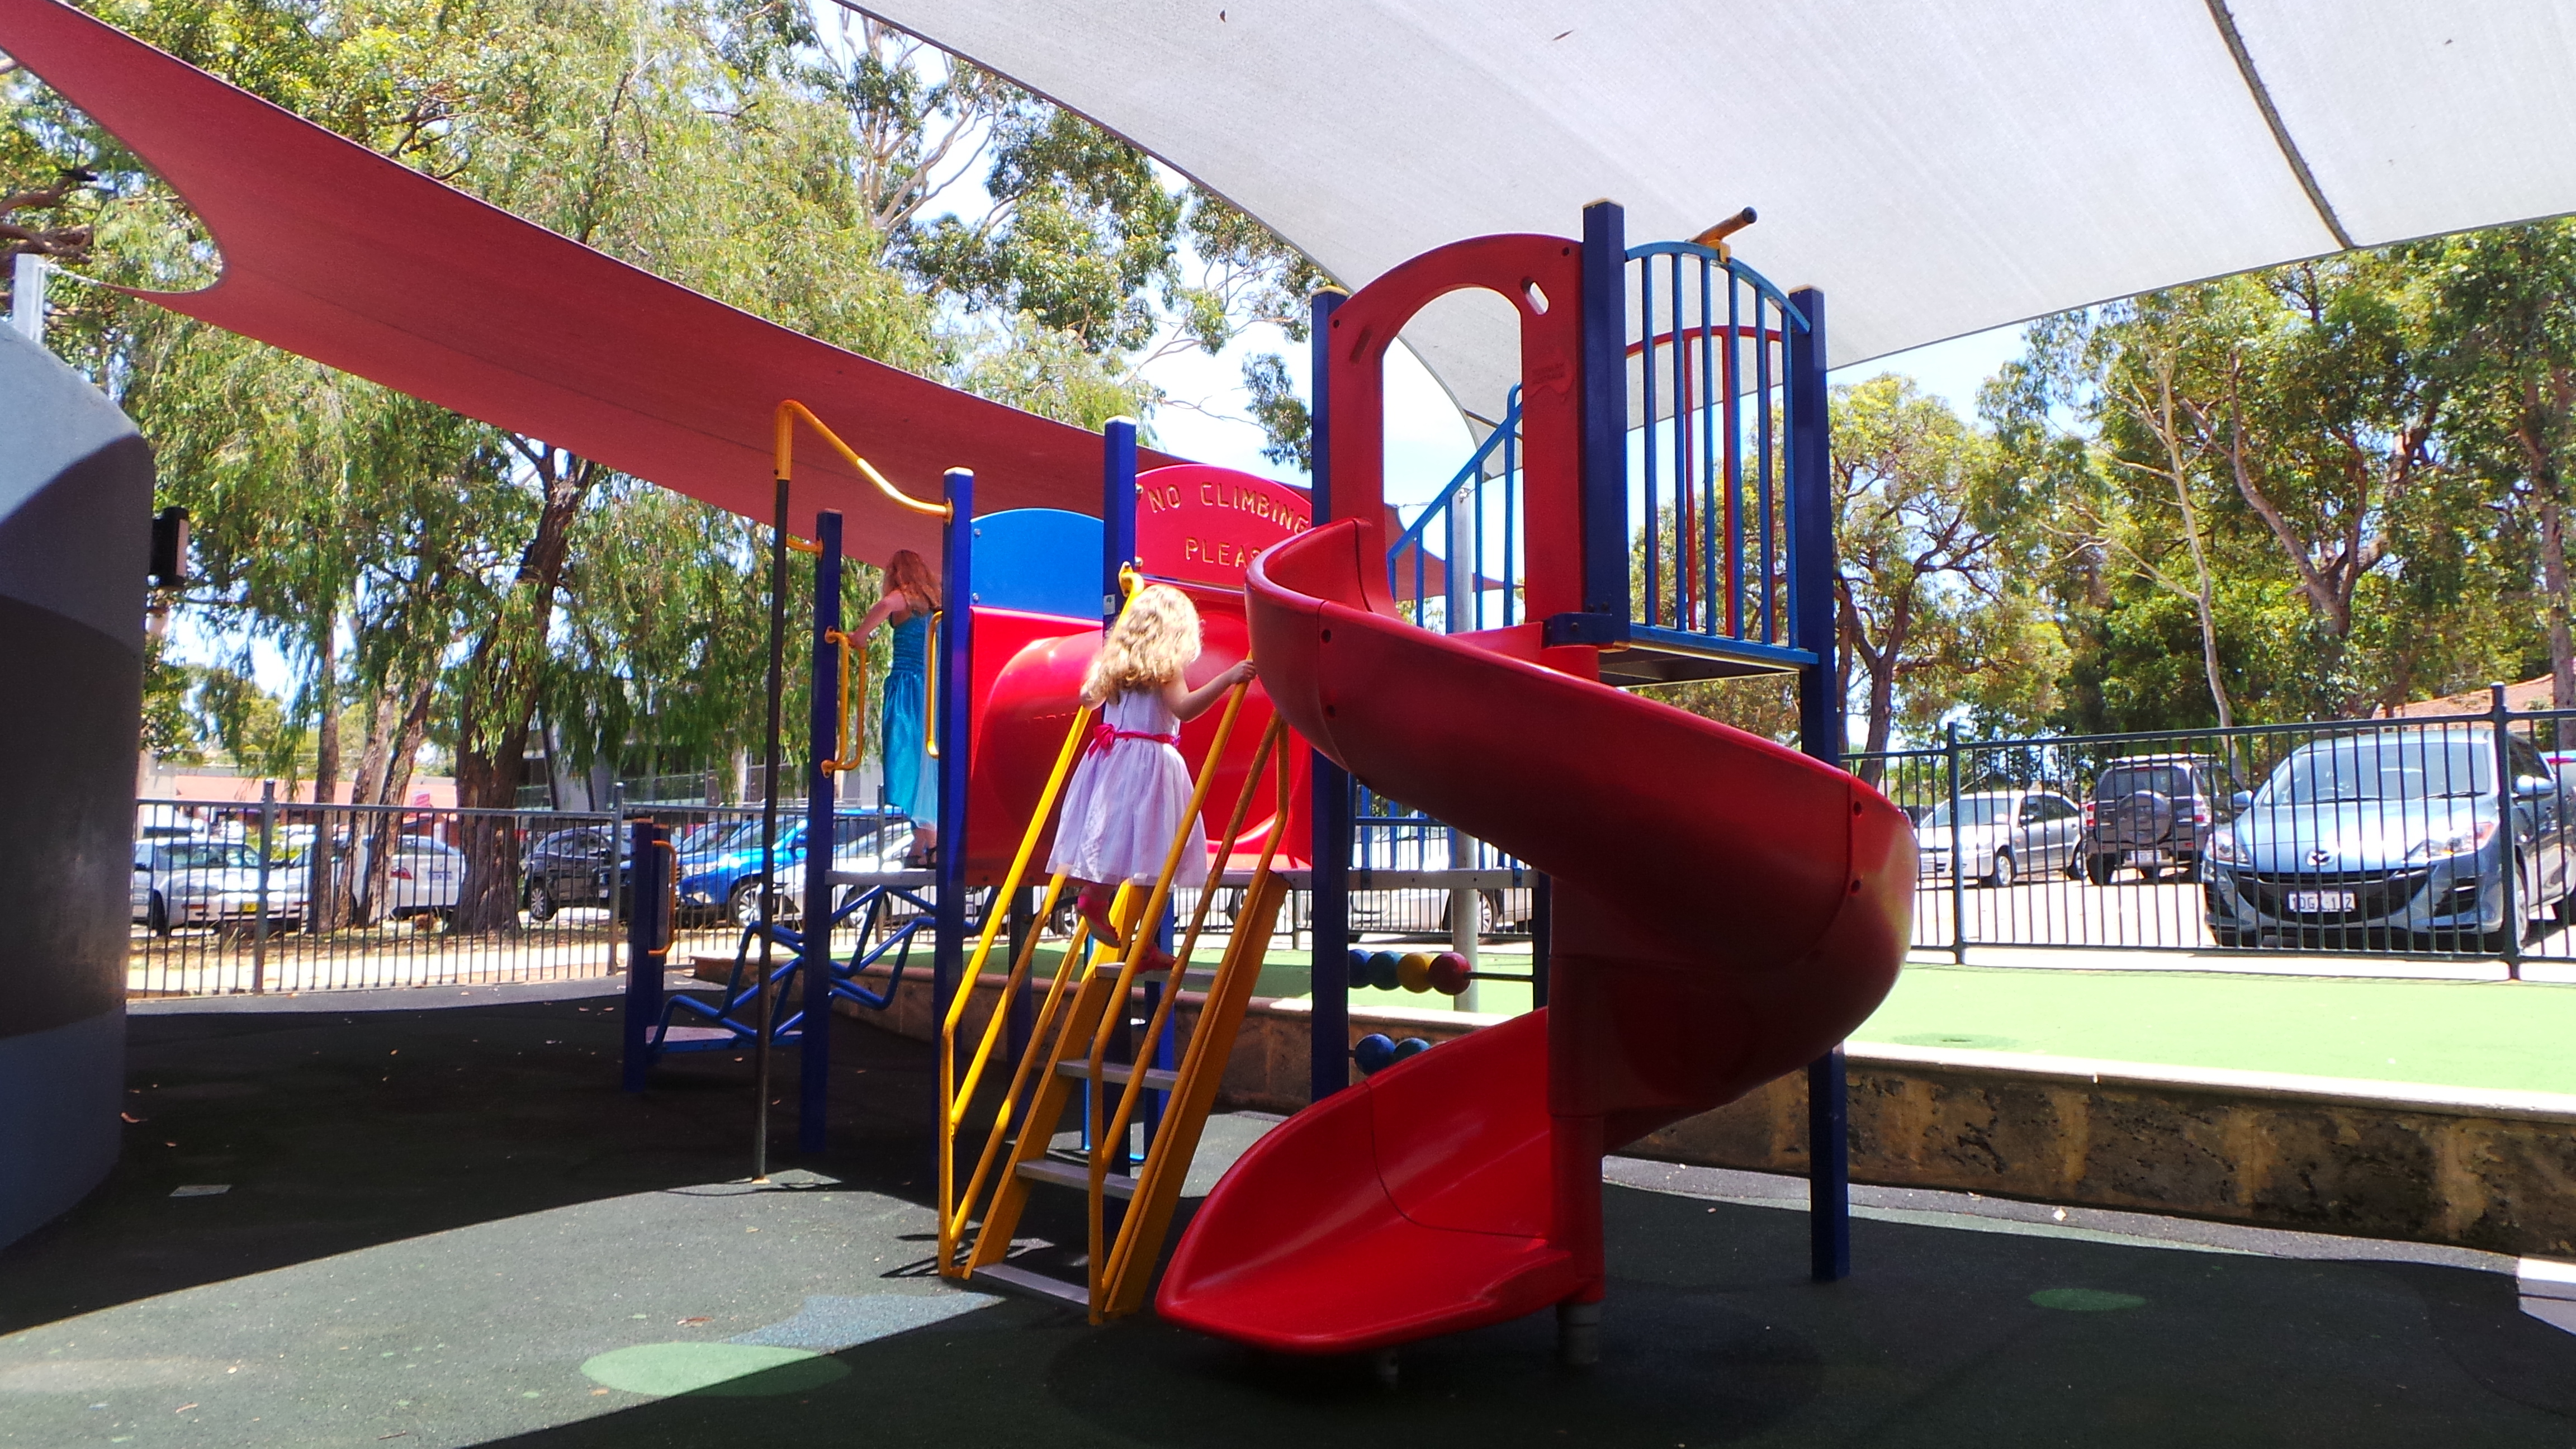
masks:
<path id="1" fill-rule="evenodd" d="M 1780 436 L 1788 348 L 1806 315 L 1762 273 L 1695 242 L 1628 248 L 1643 500 L 1636 624 L 1752 657 L 1795 652 L 1788 500 L 1806 487 Z M 1721 320 L 1723 317 L 1723 320 Z M 1816 480 L 1821 485 L 1821 480 Z"/>

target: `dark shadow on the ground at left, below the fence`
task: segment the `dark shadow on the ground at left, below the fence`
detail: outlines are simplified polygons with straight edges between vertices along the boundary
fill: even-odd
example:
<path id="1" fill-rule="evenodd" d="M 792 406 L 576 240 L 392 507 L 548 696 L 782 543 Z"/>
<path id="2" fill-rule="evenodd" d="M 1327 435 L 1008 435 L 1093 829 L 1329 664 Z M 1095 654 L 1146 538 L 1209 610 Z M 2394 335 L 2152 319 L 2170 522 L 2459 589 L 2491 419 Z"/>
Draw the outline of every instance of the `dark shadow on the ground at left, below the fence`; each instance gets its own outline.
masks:
<path id="1" fill-rule="evenodd" d="M 435 990 L 435 987 L 433 987 Z M 126 1150 L 0 1250 L 0 1333 L 474 1222 L 750 1176 L 750 1062 L 672 1057 L 618 1091 L 618 998 L 433 1011 L 134 1016 Z M 773 1168 L 927 1201 L 930 1055 L 840 1021 L 829 1147 Z M 173 1199 L 180 1186 L 219 1196 Z M 927 1261 L 927 1248 L 922 1258 Z"/>

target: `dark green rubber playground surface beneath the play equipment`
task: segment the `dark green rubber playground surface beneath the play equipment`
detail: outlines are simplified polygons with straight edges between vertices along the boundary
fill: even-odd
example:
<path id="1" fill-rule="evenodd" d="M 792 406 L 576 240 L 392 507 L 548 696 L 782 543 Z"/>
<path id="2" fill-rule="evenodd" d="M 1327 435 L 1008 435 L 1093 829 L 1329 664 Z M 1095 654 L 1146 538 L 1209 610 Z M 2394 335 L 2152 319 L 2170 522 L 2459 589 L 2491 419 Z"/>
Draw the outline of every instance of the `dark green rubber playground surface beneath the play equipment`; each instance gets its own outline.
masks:
<path id="1" fill-rule="evenodd" d="M 1638 1186 L 1607 1189 L 1589 1374 L 1553 1366 L 1546 1315 L 1406 1348 L 1396 1387 L 1151 1318 L 1090 1328 L 927 1271 L 925 1047 L 840 1024 L 829 1150 L 796 1158 L 781 1114 L 752 1189 L 747 1065 L 626 1096 L 616 998 L 533 995 L 137 1016 L 121 1168 L 0 1250 L 0 1444 L 2576 1439 L 2576 1336 L 2463 1253 L 1865 1212 L 1855 1276 L 1816 1287 L 1801 1212 Z M 1200 1183 L 1262 1129 L 1211 1122 Z M 1028 1232 L 1079 1240 L 1077 1217 Z"/>

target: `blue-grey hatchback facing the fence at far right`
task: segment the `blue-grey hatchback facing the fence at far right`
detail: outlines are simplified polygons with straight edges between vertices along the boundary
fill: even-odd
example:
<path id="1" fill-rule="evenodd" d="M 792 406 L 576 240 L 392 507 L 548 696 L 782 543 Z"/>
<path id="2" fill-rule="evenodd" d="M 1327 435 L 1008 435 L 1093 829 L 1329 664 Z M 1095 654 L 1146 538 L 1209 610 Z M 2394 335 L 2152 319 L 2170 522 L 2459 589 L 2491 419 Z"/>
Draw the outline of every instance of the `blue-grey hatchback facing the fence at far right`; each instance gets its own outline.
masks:
<path id="1" fill-rule="evenodd" d="M 2504 949 L 2514 915 L 2571 915 L 2576 799 L 2509 737 L 2512 828 L 2486 724 L 2372 730 L 2290 753 L 2210 838 L 2202 887 L 2221 946 L 2385 936 L 2432 949 Z M 2519 923 L 2514 923 L 2519 926 Z"/>

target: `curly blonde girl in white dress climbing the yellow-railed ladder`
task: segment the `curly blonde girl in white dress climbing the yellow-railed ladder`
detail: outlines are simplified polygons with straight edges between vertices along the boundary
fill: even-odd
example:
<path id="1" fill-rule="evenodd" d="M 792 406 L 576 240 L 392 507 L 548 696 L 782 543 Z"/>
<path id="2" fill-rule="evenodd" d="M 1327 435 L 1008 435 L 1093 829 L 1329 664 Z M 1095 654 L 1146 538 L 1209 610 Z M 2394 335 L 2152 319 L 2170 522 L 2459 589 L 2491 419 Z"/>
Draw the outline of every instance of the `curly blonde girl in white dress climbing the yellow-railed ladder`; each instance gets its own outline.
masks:
<path id="1" fill-rule="evenodd" d="M 1074 910 L 1110 946 L 1126 946 L 1110 920 L 1118 887 L 1151 887 L 1182 815 L 1190 815 L 1190 766 L 1180 758 L 1180 727 L 1252 678 L 1252 660 L 1244 660 L 1190 688 L 1182 670 L 1193 660 L 1198 608 L 1188 593 L 1149 583 L 1118 614 L 1082 676 L 1082 704 L 1100 709 L 1100 722 L 1064 786 L 1064 820 L 1046 869 L 1064 871 L 1082 887 Z M 1172 884 L 1195 887 L 1206 879 L 1208 828 L 1190 815 L 1190 843 L 1180 851 Z"/>

